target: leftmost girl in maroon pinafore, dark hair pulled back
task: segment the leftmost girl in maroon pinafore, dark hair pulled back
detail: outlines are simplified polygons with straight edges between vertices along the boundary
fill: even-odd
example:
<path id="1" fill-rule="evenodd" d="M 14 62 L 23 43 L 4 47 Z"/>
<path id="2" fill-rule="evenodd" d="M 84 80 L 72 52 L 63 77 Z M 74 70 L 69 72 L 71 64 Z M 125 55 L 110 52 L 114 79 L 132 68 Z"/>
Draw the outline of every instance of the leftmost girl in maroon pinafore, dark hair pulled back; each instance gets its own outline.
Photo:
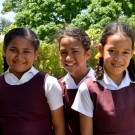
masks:
<path id="1" fill-rule="evenodd" d="M 9 69 L 0 76 L 1 135 L 65 135 L 61 87 L 32 66 L 38 48 L 39 39 L 28 28 L 5 35 Z"/>

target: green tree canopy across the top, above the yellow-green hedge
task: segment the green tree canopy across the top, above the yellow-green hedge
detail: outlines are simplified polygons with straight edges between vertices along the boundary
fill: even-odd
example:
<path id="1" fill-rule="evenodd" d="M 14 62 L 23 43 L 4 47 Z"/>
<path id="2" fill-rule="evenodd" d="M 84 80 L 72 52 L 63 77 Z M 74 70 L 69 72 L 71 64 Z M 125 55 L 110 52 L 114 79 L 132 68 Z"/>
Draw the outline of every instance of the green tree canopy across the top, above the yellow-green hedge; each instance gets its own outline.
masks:
<path id="1" fill-rule="evenodd" d="M 3 13 L 16 12 L 15 25 L 32 28 L 47 42 L 67 26 L 102 29 L 112 20 L 135 18 L 134 0 L 5 0 L 3 6 Z"/>

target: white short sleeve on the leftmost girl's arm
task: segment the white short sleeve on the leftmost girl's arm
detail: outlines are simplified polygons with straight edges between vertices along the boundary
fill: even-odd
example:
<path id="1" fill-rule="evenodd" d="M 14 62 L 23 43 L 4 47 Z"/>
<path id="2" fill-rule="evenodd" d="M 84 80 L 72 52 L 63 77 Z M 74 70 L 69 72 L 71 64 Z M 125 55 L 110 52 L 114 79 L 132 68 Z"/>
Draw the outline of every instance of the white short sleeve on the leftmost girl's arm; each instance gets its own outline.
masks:
<path id="1" fill-rule="evenodd" d="M 47 76 L 44 88 L 50 110 L 53 111 L 63 106 L 62 89 L 55 77 Z"/>

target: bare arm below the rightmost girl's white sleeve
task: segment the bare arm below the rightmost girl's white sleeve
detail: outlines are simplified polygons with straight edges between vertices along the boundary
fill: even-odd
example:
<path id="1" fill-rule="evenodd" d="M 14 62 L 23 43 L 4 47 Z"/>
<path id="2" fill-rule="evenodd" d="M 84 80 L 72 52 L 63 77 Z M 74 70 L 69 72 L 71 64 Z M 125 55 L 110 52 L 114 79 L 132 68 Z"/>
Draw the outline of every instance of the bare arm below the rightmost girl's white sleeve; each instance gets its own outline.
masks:
<path id="1" fill-rule="evenodd" d="M 79 113 L 79 116 L 81 135 L 93 135 L 93 119 L 82 113 Z"/>

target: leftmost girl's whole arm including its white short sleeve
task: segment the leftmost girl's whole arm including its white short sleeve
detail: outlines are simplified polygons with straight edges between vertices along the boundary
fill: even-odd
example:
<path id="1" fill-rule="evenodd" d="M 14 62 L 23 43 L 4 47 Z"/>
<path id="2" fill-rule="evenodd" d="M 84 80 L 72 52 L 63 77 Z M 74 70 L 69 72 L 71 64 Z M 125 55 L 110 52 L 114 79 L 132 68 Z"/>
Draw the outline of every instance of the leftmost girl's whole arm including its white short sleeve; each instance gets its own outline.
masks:
<path id="1" fill-rule="evenodd" d="M 57 79 L 48 76 L 45 83 L 45 94 L 51 110 L 54 135 L 65 135 L 62 89 Z"/>

